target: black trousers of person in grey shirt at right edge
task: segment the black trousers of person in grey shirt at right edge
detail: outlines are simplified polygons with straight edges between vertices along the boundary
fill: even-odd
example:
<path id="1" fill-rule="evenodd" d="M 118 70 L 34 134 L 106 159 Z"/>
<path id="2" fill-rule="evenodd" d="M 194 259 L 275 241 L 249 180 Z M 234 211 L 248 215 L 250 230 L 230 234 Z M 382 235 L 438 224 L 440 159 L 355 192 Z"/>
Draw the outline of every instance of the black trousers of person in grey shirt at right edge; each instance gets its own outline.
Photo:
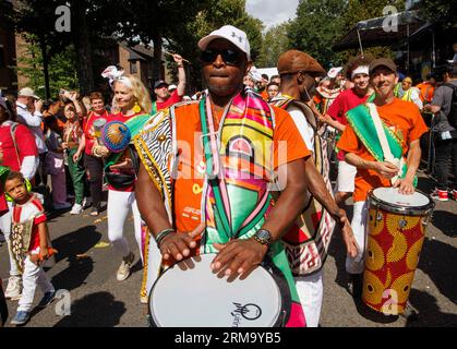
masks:
<path id="1" fill-rule="evenodd" d="M 435 170 L 440 190 L 447 190 L 452 163 L 454 164 L 453 188 L 457 190 L 457 140 L 437 140 L 435 143 Z"/>

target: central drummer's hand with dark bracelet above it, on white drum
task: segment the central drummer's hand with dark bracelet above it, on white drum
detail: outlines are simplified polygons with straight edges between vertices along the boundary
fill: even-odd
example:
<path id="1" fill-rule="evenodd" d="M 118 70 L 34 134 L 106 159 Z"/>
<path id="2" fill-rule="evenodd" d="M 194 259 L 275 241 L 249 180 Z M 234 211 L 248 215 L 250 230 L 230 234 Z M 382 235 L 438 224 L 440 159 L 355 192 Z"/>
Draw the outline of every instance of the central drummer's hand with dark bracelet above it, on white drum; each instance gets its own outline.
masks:
<path id="1" fill-rule="evenodd" d="M 191 254 L 191 249 L 196 248 L 194 238 L 202 234 L 203 231 L 205 231 L 204 222 L 188 233 L 172 232 L 165 237 L 158 246 L 164 260 L 173 257 L 177 261 L 182 261 L 188 257 Z"/>

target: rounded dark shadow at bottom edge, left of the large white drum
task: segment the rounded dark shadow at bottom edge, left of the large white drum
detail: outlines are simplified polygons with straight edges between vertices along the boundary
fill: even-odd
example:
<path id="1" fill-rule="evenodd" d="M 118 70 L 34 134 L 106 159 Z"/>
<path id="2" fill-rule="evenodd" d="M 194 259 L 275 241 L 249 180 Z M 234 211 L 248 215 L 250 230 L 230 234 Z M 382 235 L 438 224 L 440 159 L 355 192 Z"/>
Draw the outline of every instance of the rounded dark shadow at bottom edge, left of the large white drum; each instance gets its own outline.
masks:
<path id="1" fill-rule="evenodd" d="M 55 327 L 115 327 L 125 313 L 125 304 L 108 292 L 88 294 L 72 303 L 71 315 Z"/>

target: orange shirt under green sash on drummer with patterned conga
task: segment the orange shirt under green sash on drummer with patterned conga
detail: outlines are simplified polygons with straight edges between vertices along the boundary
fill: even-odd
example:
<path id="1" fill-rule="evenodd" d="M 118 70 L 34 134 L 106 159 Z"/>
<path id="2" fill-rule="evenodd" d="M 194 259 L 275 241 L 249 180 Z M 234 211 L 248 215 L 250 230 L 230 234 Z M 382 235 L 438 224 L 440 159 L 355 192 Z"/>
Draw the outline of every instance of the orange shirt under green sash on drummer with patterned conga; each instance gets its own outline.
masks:
<path id="1" fill-rule="evenodd" d="M 393 103 L 377 107 L 377 112 L 384 123 L 402 140 L 404 156 L 408 153 L 409 144 L 428 131 L 419 108 L 413 103 L 395 98 Z M 345 153 L 353 153 L 364 160 L 375 160 L 350 125 L 342 132 L 337 147 Z M 358 169 L 353 201 L 365 201 L 368 192 L 380 186 L 390 186 L 390 180 L 373 170 Z"/>

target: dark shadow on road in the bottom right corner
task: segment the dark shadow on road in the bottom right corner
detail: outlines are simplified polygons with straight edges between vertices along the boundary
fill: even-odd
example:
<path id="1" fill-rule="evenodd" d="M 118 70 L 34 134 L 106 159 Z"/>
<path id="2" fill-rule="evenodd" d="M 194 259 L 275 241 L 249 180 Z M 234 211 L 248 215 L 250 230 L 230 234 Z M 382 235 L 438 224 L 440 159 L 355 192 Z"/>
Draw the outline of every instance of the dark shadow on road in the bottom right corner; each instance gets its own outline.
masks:
<path id="1" fill-rule="evenodd" d="M 406 327 L 455 327 L 457 314 L 443 313 L 436 304 L 436 298 L 428 292 L 411 289 L 410 303 L 419 311 L 413 322 L 407 322 Z"/>

